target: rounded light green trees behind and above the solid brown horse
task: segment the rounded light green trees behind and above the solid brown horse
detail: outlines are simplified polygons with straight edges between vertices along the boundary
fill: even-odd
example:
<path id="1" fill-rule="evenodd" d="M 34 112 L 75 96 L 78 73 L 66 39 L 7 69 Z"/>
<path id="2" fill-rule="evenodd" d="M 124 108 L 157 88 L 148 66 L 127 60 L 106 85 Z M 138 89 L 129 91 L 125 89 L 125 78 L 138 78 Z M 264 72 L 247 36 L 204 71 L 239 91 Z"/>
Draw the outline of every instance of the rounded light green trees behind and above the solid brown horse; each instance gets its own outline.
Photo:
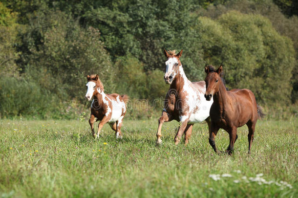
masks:
<path id="1" fill-rule="evenodd" d="M 289 103 L 295 51 L 288 38 L 259 15 L 231 11 L 200 21 L 204 60 L 224 64 L 228 87 L 249 88 L 262 104 Z"/>

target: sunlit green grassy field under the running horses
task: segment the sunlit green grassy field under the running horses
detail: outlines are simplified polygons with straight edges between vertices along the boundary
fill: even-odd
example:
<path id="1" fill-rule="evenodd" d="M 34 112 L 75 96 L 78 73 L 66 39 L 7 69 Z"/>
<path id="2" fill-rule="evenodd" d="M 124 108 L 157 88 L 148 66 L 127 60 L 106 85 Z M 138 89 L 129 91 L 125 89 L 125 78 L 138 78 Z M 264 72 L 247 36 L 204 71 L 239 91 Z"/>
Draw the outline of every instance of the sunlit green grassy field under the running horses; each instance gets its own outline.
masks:
<path id="1" fill-rule="evenodd" d="M 208 126 L 194 125 L 187 147 L 178 123 L 124 121 L 123 139 L 105 126 L 99 140 L 80 121 L 0 120 L 2 197 L 298 197 L 298 119 L 258 121 L 252 154 L 238 129 L 233 156 L 217 155 Z M 228 146 L 219 131 L 219 150 Z"/>

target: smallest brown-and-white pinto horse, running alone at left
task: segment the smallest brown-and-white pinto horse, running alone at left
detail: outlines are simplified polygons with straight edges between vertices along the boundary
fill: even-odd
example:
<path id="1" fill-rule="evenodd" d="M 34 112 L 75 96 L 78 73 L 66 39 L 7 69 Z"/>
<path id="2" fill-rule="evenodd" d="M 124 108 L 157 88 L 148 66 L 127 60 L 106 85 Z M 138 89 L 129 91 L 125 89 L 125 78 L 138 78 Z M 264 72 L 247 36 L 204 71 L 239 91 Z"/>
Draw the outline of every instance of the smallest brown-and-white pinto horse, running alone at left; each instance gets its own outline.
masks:
<path id="1" fill-rule="evenodd" d="M 98 74 L 87 75 L 87 92 L 85 98 L 91 103 L 91 113 L 89 124 L 93 137 L 99 137 L 100 131 L 104 124 L 108 123 L 112 130 L 115 131 L 116 138 L 122 138 L 121 127 L 124 115 L 126 113 L 127 95 L 119 95 L 117 93 L 106 94 L 104 86 L 99 79 Z M 100 120 L 98 124 L 97 135 L 94 132 L 94 122 Z"/>

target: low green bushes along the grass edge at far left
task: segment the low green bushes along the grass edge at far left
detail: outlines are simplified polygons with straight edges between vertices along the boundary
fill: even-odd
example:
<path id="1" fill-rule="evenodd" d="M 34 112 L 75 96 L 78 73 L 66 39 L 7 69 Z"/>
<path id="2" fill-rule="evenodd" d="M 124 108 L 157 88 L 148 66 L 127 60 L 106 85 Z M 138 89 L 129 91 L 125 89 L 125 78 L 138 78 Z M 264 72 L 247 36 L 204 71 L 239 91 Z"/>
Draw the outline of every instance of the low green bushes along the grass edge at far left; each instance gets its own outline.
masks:
<path id="1" fill-rule="evenodd" d="M 0 79 L 0 117 L 74 119 L 83 110 L 75 101 L 65 101 L 30 79 Z"/>

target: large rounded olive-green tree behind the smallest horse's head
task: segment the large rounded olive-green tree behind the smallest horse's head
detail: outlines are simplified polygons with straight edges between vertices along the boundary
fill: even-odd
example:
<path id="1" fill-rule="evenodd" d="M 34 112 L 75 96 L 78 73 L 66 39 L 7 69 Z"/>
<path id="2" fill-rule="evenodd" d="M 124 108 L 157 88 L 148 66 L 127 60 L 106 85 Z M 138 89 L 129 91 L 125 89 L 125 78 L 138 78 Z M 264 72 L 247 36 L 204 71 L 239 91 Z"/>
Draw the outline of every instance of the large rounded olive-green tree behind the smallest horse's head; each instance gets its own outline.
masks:
<path id="1" fill-rule="evenodd" d="M 114 73 L 99 38 L 99 30 L 85 30 L 62 12 L 36 16 L 22 38 L 26 75 L 55 94 L 81 101 L 87 74 L 99 74 L 106 90 L 112 90 Z"/>

